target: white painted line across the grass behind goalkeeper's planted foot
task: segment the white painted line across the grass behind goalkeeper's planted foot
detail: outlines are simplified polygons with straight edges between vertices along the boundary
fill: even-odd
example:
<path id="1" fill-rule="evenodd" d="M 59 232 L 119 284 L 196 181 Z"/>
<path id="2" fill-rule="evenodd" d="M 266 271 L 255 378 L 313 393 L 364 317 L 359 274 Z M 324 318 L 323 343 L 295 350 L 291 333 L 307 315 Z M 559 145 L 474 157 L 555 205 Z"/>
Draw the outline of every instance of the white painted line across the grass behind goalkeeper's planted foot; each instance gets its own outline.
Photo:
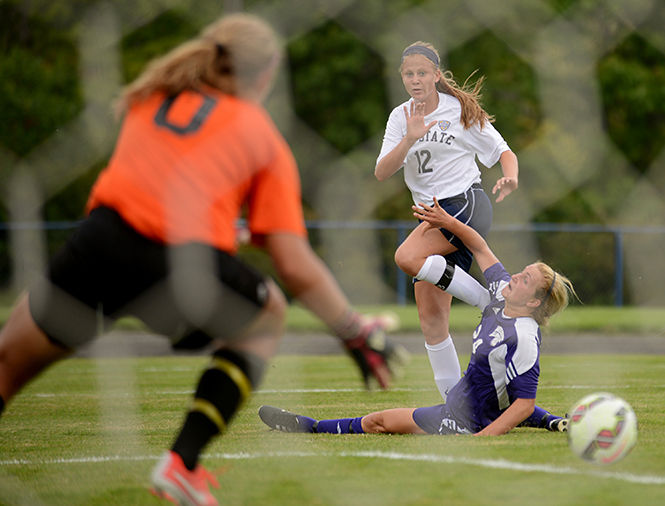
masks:
<path id="1" fill-rule="evenodd" d="M 410 462 L 430 462 L 434 464 L 454 464 L 466 465 L 472 467 L 481 467 L 486 469 L 501 469 L 506 471 L 516 471 L 525 473 L 544 473 L 554 475 L 575 475 L 589 476 L 593 478 L 602 478 L 606 480 L 622 481 L 627 483 L 637 483 L 640 485 L 665 485 L 665 476 L 640 475 L 632 473 L 617 473 L 611 471 L 585 470 L 574 467 L 551 466 L 548 464 L 527 464 L 524 462 L 513 462 L 504 459 L 472 459 L 466 457 L 454 457 L 451 455 L 432 455 L 432 454 L 414 454 L 398 452 L 267 452 L 267 453 L 209 453 L 204 455 L 208 459 L 226 459 L 226 460 L 250 460 L 250 459 L 284 459 L 284 458 L 367 458 L 367 459 L 385 459 L 401 460 Z M 96 464 L 105 462 L 136 462 L 136 461 L 157 461 L 160 456 L 92 456 L 92 457 L 73 457 L 73 458 L 55 458 L 55 459 L 10 459 L 0 460 L 0 467 L 9 466 L 44 466 L 49 464 L 67 465 L 67 464 Z"/>

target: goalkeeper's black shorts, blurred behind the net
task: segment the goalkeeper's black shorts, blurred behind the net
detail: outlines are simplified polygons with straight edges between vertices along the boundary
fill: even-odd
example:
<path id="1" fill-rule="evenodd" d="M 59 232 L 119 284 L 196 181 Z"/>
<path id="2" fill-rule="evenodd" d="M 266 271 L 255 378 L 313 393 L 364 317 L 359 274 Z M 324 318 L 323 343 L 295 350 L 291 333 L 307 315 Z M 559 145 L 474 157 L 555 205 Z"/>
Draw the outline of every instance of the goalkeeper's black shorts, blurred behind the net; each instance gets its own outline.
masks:
<path id="1" fill-rule="evenodd" d="M 49 338 L 77 348 L 122 316 L 135 316 L 176 347 L 232 339 L 265 306 L 266 278 L 206 244 L 150 240 L 118 213 L 94 209 L 30 290 Z"/>

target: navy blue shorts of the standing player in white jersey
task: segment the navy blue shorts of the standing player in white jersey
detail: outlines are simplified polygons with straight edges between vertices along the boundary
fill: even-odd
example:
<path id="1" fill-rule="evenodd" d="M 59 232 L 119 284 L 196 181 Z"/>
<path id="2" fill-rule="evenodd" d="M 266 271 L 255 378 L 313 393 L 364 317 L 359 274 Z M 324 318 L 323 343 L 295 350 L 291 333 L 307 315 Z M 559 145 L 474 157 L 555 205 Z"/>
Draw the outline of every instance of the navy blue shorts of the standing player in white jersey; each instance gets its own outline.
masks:
<path id="1" fill-rule="evenodd" d="M 464 193 L 439 200 L 439 205 L 449 215 L 457 218 L 465 225 L 469 225 L 482 237 L 487 237 L 492 225 L 492 203 L 480 183 L 474 183 Z M 450 244 L 457 248 L 457 251 L 445 256 L 446 261 L 452 262 L 469 272 L 473 262 L 473 254 L 457 236 L 445 228 L 439 230 Z"/>

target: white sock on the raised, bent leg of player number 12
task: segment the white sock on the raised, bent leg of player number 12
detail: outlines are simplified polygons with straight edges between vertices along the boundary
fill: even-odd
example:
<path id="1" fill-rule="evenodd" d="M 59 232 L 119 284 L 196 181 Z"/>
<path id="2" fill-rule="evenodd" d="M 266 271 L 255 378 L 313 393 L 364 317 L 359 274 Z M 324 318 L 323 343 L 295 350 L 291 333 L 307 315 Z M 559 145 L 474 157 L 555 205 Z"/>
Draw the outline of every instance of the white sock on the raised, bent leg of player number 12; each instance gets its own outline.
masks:
<path id="1" fill-rule="evenodd" d="M 416 274 L 416 279 L 439 286 L 439 282 L 446 270 L 446 265 L 446 259 L 441 255 L 430 255 L 425 259 L 425 263 L 420 268 L 420 271 L 418 271 L 418 274 Z M 487 289 L 478 283 L 468 272 L 457 266 L 455 266 L 453 277 L 445 291 L 453 297 L 471 306 L 476 306 L 481 310 L 485 309 L 485 306 L 490 301 Z"/>

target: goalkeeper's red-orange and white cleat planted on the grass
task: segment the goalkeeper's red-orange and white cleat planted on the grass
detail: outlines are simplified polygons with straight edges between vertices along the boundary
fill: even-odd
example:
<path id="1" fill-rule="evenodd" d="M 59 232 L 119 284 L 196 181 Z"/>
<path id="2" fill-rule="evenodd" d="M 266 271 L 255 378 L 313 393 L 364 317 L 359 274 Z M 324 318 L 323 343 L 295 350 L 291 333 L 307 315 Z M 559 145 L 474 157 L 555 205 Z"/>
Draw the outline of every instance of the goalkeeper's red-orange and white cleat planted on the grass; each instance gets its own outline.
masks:
<path id="1" fill-rule="evenodd" d="M 180 506 L 217 505 L 217 499 L 210 493 L 208 483 L 219 488 L 217 479 L 203 466 L 198 465 L 194 471 L 190 471 L 183 464 L 180 455 L 168 451 L 152 472 L 151 492 Z"/>

